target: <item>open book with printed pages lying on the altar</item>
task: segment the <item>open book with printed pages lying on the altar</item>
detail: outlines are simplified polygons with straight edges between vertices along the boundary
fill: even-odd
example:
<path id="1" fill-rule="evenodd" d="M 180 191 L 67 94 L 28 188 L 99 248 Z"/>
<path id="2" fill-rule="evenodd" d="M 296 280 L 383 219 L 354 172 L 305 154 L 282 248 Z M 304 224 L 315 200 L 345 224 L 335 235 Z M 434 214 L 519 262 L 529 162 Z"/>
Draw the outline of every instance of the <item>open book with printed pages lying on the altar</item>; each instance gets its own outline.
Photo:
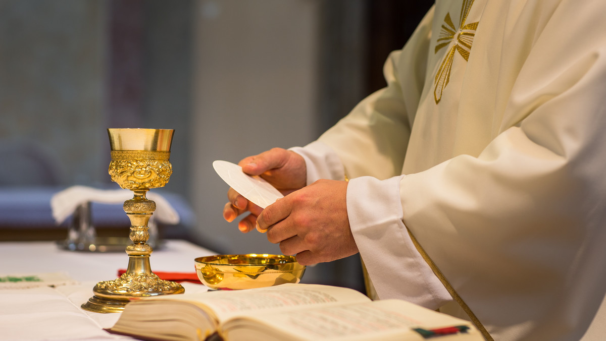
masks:
<path id="1" fill-rule="evenodd" d="M 484 340 L 470 322 L 404 300 L 300 283 L 138 299 L 108 331 L 145 340 Z"/>

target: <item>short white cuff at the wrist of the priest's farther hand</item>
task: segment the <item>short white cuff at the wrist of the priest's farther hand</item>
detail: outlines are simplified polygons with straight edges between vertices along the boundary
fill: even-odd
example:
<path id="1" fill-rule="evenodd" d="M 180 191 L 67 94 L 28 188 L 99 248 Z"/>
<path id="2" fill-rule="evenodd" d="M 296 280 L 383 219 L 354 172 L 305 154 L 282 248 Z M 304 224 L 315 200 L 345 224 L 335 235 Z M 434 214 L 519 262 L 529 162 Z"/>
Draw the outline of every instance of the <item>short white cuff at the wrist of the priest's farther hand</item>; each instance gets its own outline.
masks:
<path id="1" fill-rule="evenodd" d="M 305 159 L 307 185 L 319 179 L 345 179 L 345 171 L 339 156 L 324 142 L 314 141 L 305 147 L 293 147 L 288 150 L 294 151 Z"/>

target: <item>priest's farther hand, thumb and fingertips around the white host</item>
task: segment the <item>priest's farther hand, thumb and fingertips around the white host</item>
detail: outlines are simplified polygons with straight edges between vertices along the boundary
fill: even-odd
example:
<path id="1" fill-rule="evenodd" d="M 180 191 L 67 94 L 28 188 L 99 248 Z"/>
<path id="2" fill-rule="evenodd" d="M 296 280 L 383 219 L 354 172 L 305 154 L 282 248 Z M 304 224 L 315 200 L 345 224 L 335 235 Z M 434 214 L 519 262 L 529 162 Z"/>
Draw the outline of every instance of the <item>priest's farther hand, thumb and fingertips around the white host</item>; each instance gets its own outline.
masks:
<path id="1" fill-rule="evenodd" d="M 272 148 L 261 154 L 245 157 L 238 165 L 244 173 L 261 176 L 282 194 L 291 193 L 307 184 L 305 160 L 294 151 Z M 224 219 L 232 222 L 240 214 L 250 212 L 240 220 L 238 229 L 244 233 L 253 230 L 262 208 L 248 201 L 233 188 L 227 191 L 227 197 L 229 202 L 223 208 Z"/>

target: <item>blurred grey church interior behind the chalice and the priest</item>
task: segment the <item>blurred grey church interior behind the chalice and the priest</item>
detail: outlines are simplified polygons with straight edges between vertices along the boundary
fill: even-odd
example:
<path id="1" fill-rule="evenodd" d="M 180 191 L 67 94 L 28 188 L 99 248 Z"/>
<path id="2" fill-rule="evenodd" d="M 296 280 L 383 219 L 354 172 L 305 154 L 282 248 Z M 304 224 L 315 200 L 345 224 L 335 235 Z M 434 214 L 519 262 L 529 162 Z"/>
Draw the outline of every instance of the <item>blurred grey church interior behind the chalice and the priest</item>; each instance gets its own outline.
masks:
<path id="1" fill-rule="evenodd" d="M 154 191 L 181 222 L 162 235 L 217 253 L 279 253 L 222 219 L 228 187 L 212 162 L 316 139 L 384 87 L 388 53 L 432 3 L 0 0 L 0 240 L 65 238 L 53 193 L 118 188 L 107 128 L 173 128 L 174 173 Z M 93 220 L 127 236 L 116 212 L 124 226 Z M 363 291 L 359 256 L 309 268 L 304 282 Z"/>

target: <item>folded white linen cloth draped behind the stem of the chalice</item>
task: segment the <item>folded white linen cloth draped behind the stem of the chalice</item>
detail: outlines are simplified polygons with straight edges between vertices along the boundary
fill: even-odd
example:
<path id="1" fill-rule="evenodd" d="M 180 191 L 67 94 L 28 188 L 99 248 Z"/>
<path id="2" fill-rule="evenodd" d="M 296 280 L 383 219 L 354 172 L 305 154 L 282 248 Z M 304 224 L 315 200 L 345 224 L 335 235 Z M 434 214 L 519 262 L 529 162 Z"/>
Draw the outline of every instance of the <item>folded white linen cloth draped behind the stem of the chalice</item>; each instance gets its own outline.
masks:
<path id="1" fill-rule="evenodd" d="M 156 202 L 156 210 L 151 219 L 158 222 L 176 225 L 179 223 L 179 213 L 162 196 L 162 194 L 148 192 L 147 199 Z M 54 194 L 50 199 L 53 218 L 57 224 L 64 222 L 70 214 L 74 213 L 79 205 L 86 202 L 98 202 L 101 204 L 122 204 L 126 200 L 133 199 L 133 193 L 130 190 L 101 190 L 99 188 L 87 186 L 72 186 L 65 188 Z"/>

